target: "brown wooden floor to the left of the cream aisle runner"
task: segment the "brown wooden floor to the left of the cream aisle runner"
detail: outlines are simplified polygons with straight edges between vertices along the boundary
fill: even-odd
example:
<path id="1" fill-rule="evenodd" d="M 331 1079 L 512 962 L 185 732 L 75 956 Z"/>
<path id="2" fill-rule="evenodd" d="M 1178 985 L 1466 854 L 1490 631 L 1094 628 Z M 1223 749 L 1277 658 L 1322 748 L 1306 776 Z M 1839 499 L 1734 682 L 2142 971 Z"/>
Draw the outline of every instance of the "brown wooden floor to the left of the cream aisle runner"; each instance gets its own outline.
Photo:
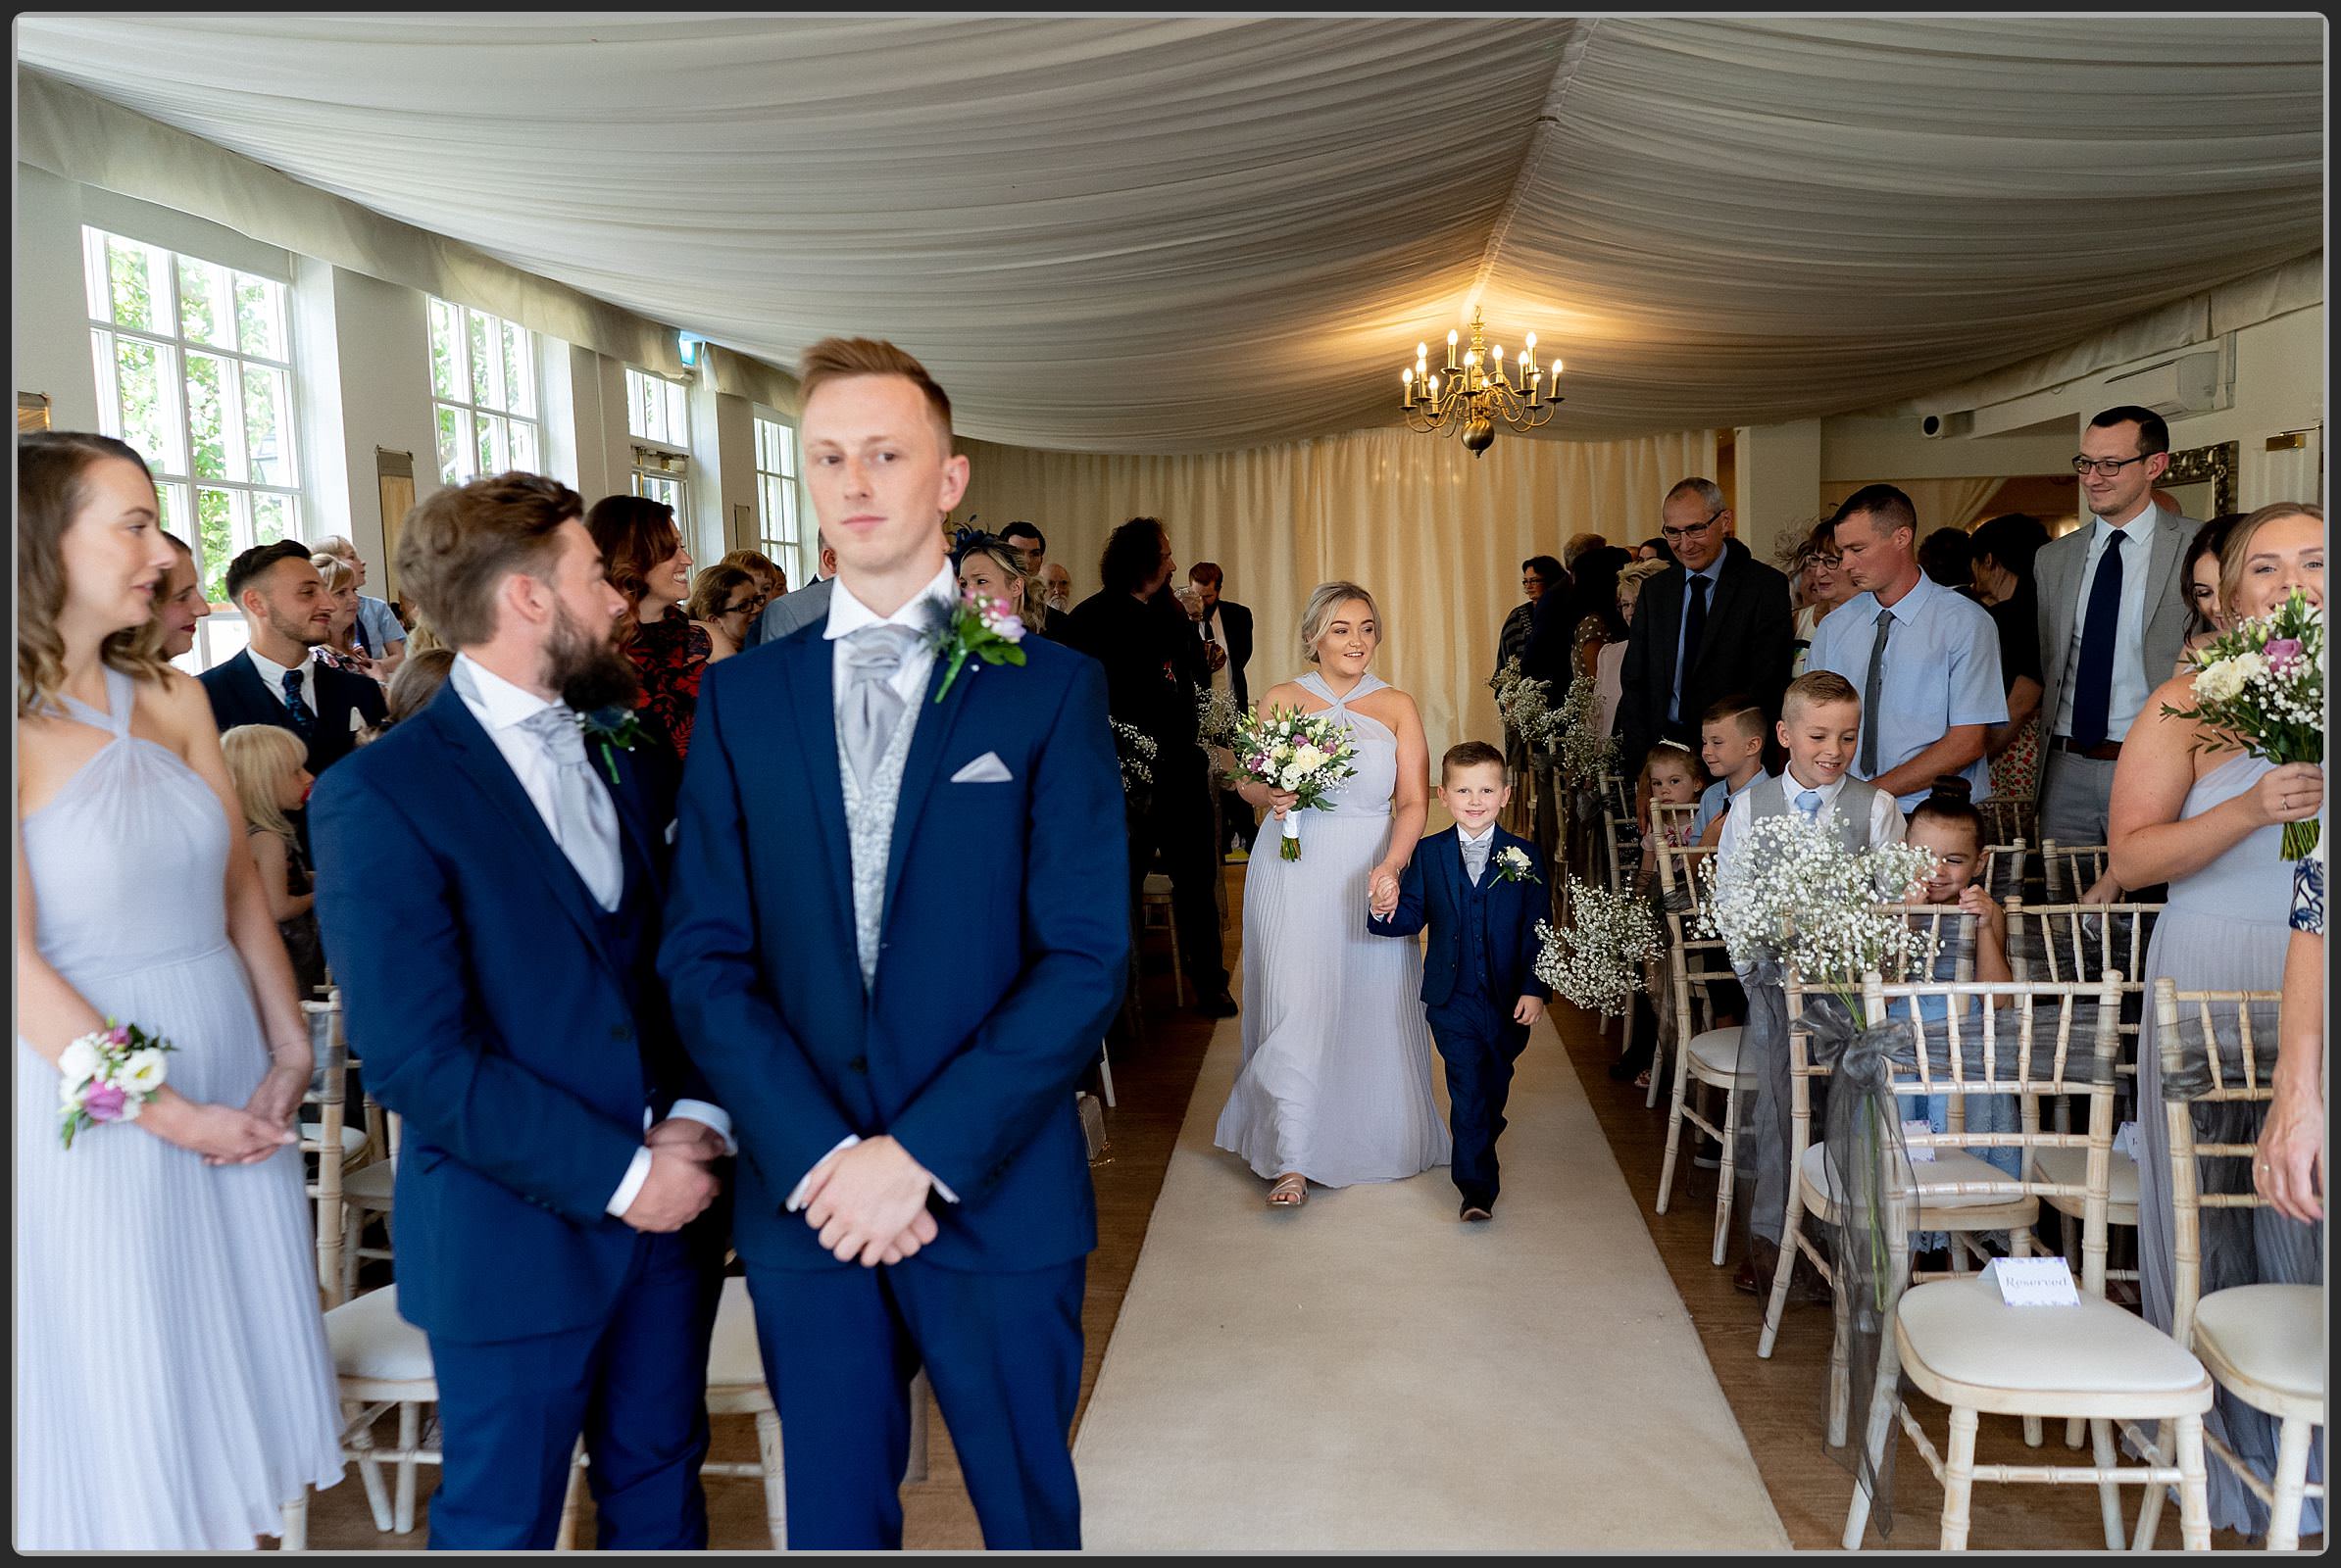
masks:
<path id="1" fill-rule="evenodd" d="M 1229 908 L 1243 908 L 1243 871 L 1227 868 Z M 1234 931 L 1234 920 L 1229 927 Z M 1187 1100 L 1194 1093 L 1203 1051 L 1210 1044 L 1213 1023 L 1185 1006 L 1173 1006 L 1170 974 L 1159 938 L 1149 938 L 1147 981 L 1140 992 L 1145 1002 L 1145 1037 L 1117 1041 L 1114 1051 L 1114 1109 L 1105 1112 L 1107 1149 L 1105 1158 L 1091 1165 L 1098 1189 L 1098 1250 L 1089 1257 L 1089 1292 L 1082 1304 L 1082 1402 L 1089 1409 L 1089 1392 L 1098 1383 L 1098 1364 L 1105 1360 L 1105 1341 L 1121 1315 L 1121 1294 L 1138 1268 L 1138 1250 L 1147 1238 L 1147 1219 L 1154 1212 L 1154 1196 L 1161 1191 L 1163 1170 L 1170 1165 L 1170 1149 L 1178 1144 L 1180 1123 L 1187 1119 Z M 1234 962 L 1234 934 L 1229 934 L 1229 960 Z M 1096 1086 L 1091 1086 L 1096 1088 Z M 927 1479 L 904 1486 L 904 1547 L 911 1549 L 981 1549 L 983 1533 L 976 1528 L 976 1509 L 967 1500 L 960 1479 L 957 1456 L 950 1451 L 950 1435 L 929 1397 L 929 1467 Z M 1079 1428 L 1079 1414 L 1075 1416 Z M 384 1423 L 384 1442 L 393 1425 Z M 787 1442 L 787 1439 L 782 1439 Z M 712 1460 L 756 1463 L 756 1425 L 751 1416 L 716 1416 Z M 321 1491 L 309 1505 L 311 1552 L 414 1552 L 426 1545 L 428 1495 L 438 1481 L 438 1470 L 424 1465 L 417 1477 L 414 1531 L 384 1535 L 375 1531 L 375 1517 L 365 1507 L 365 1488 L 356 1467 L 339 1486 Z M 707 1540 L 723 1552 L 761 1552 L 770 1545 L 763 1519 L 763 1484 L 735 1477 L 707 1477 Z M 592 1502 L 578 1526 L 578 1542 L 592 1545 Z"/>

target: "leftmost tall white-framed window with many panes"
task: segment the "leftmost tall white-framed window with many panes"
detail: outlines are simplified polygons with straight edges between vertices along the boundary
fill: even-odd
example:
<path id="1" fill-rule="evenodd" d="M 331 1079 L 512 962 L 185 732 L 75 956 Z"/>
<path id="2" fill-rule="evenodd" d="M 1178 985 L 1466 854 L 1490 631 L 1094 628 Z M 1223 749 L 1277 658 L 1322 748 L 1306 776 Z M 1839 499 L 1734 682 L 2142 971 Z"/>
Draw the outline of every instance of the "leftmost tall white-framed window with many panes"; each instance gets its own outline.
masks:
<path id="1" fill-rule="evenodd" d="M 241 550 L 302 538 L 288 290 L 89 227 L 82 260 L 98 428 L 155 470 L 164 527 L 194 550 L 218 604 Z M 201 630 L 201 662 L 225 658 L 213 623 Z"/>

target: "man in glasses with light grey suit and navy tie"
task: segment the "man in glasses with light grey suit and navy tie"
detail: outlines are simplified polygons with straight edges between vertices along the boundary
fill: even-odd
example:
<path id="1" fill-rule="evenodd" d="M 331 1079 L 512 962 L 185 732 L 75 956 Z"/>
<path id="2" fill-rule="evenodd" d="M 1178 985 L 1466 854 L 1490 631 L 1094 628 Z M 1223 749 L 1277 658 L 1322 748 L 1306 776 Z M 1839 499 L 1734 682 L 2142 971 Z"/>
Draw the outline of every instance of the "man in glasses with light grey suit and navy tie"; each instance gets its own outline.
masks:
<path id="1" fill-rule="evenodd" d="M 2198 524 L 2154 503 L 2170 426 L 2109 407 L 2081 431 L 2083 524 L 2034 559 L 2041 639 L 2041 838 L 2102 845 L 2114 761 L 2186 641 L 2179 557 Z"/>

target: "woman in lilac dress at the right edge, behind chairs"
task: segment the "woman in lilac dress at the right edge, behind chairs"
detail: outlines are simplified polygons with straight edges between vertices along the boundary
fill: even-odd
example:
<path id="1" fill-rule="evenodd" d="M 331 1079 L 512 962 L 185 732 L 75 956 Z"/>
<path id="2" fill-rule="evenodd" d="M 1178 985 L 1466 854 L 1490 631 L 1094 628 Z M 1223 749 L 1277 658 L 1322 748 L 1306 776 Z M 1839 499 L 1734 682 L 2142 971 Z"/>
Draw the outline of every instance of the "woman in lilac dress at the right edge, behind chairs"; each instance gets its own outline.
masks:
<path id="1" fill-rule="evenodd" d="M 2222 550 L 2219 590 L 2236 618 L 2266 615 L 2301 590 L 2325 601 L 2325 515 L 2313 506 L 2271 506 L 2245 517 Z M 2114 765 L 2107 821 L 2107 866 L 2121 887 L 2170 885 L 2170 901 L 2154 922 L 2147 983 L 2177 981 L 2179 990 L 2278 990 L 2292 931 L 2292 861 L 2282 857 L 2282 824 L 2315 817 L 2325 803 L 2325 770 L 2282 768 L 2236 751 L 2203 751 L 2219 740 L 2191 721 L 2163 716 L 2163 704 L 2186 707 L 2194 676 L 2165 681 L 2147 697 Z M 2170 1140 L 2161 1107 L 2161 1046 L 2154 1009 L 2137 1039 L 2137 1257 L 2147 1320 L 2172 1320 Z M 2198 1135 L 2252 1142 L 2266 1107 L 2196 1107 Z M 2205 1161 L 2208 1191 L 2231 1189 L 2238 1172 Z M 2240 1172 L 2250 1180 L 2250 1172 Z M 2203 1294 L 2231 1285 L 2325 1280 L 2318 1226 L 2273 1208 L 2203 1212 Z M 2219 1395 L 2205 1430 L 2217 1435 L 2261 1477 L 2275 1472 L 2278 1423 L 2240 1399 Z M 2313 1449 L 2320 1451 L 2322 1444 Z M 2311 1465 L 2311 1479 L 2318 1467 Z M 2210 1465 L 2215 1528 L 2261 1535 L 2268 1509 L 2219 1463 Z M 2322 1531 L 2322 1505 L 2308 1502 L 2301 1535 Z"/>

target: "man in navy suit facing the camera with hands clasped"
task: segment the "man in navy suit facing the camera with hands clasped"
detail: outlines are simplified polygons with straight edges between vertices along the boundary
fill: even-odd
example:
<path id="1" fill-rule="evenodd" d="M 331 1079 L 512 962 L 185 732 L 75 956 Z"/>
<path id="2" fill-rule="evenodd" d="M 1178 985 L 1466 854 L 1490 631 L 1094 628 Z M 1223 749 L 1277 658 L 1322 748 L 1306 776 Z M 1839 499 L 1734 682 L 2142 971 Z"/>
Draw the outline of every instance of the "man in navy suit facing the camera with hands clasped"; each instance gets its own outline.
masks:
<path id="1" fill-rule="evenodd" d="M 789 1547 L 901 1545 L 925 1364 L 983 1542 L 1077 1549 L 1075 1084 L 1131 943 L 1105 674 L 1039 637 L 1021 665 L 955 655 L 967 459 L 918 360 L 826 339 L 801 388 L 836 590 L 707 667 L 660 950 L 740 1140 Z"/>

